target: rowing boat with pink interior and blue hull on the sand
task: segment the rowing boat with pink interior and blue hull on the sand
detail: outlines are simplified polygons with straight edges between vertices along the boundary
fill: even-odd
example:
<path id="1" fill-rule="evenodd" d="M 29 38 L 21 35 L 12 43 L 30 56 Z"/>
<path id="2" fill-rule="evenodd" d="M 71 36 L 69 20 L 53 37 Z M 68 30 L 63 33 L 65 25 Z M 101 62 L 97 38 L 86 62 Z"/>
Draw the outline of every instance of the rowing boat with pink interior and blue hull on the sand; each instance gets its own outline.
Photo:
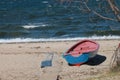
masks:
<path id="1" fill-rule="evenodd" d="M 80 66 L 87 62 L 90 58 L 96 56 L 99 49 L 99 44 L 93 40 L 82 40 L 73 45 L 64 54 L 63 58 L 68 64 Z"/>

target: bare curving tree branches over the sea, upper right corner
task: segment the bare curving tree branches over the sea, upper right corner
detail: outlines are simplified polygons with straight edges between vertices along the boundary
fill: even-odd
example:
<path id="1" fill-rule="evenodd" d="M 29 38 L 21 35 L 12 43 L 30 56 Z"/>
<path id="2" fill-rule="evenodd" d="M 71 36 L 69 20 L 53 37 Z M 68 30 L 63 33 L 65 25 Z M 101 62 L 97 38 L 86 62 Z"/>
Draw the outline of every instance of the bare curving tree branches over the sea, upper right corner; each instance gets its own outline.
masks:
<path id="1" fill-rule="evenodd" d="M 67 1 L 67 2 L 72 2 L 72 1 L 76 1 L 76 0 L 60 0 L 60 1 Z M 120 10 L 119 8 L 116 6 L 115 4 L 115 0 L 106 0 L 108 2 L 108 4 L 110 5 L 110 8 L 112 9 L 112 11 L 114 12 L 116 19 L 113 18 L 109 18 L 109 17 L 105 17 L 101 14 L 99 14 L 98 12 L 96 12 L 95 10 L 91 9 L 87 3 L 89 2 L 89 0 L 77 0 L 80 1 L 81 3 L 84 4 L 85 8 L 87 9 L 88 12 L 92 12 L 95 15 L 99 16 L 102 19 L 106 19 L 106 20 L 112 20 L 112 21 L 120 21 Z M 105 2 L 105 0 L 102 0 L 103 2 Z M 101 2 L 101 1 L 100 1 Z M 99 3 L 100 3 L 99 2 Z"/>

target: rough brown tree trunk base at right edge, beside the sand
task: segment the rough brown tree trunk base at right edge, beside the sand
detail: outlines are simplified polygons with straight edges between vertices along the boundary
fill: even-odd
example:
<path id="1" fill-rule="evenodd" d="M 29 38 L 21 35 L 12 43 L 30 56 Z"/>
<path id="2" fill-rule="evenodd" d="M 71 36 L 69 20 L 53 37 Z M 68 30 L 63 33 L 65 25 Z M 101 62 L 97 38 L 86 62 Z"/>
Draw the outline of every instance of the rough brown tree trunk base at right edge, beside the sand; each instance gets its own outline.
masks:
<path id="1" fill-rule="evenodd" d="M 110 67 L 112 70 L 119 71 L 120 69 L 120 44 L 118 45 L 112 56 Z"/>

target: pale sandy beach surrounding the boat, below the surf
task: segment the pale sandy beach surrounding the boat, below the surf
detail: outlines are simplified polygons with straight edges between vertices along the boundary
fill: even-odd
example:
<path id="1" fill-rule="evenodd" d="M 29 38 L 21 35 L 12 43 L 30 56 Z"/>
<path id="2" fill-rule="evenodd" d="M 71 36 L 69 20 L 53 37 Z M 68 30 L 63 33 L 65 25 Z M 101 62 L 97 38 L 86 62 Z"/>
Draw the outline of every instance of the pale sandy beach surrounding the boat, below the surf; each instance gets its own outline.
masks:
<path id="1" fill-rule="evenodd" d="M 120 40 L 96 40 L 100 49 L 95 61 L 69 66 L 62 53 L 77 42 L 1 43 L 0 80 L 87 80 L 109 71 Z M 41 68 L 48 53 L 54 54 L 52 66 Z"/>

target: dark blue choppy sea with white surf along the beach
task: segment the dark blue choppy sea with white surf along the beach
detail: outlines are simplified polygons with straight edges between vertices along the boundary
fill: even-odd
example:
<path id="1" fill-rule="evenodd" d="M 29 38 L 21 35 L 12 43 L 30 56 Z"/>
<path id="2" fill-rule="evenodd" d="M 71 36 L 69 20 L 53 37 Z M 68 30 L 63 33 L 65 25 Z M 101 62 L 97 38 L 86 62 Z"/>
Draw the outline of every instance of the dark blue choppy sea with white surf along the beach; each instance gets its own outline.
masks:
<path id="1" fill-rule="evenodd" d="M 120 22 L 106 0 L 0 0 L 0 43 L 120 39 Z M 115 0 L 120 8 L 120 1 Z"/>

